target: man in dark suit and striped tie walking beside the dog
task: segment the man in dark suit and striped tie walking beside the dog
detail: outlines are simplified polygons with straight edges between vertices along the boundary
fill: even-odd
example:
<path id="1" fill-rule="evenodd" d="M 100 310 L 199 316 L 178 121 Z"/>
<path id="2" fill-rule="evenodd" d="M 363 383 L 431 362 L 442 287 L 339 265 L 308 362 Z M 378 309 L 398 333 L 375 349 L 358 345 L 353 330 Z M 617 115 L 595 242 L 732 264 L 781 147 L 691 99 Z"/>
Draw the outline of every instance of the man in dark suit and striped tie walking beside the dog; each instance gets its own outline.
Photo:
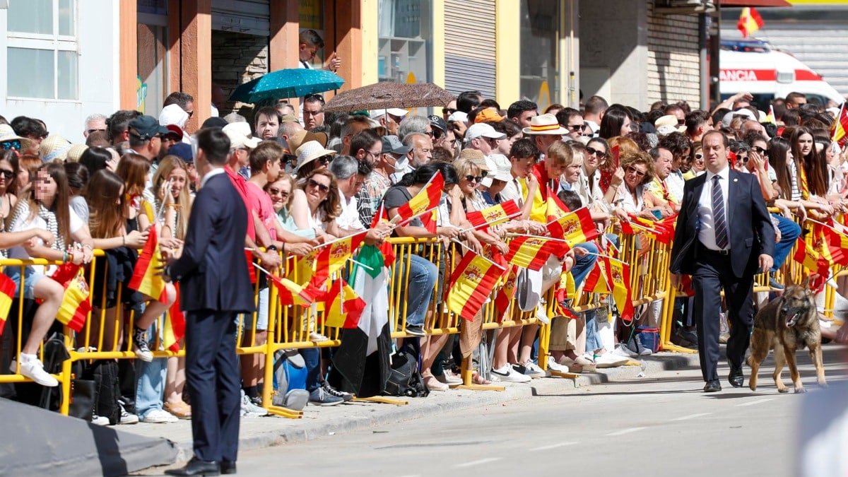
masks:
<path id="1" fill-rule="evenodd" d="M 728 138 L 706 133 L 703 152 L 706 174 L 683 188 L 669 269 L 675 287 L 681 273 L 692 275 L 700 371 L 704 391 L 714 392 L 722 390 L 717 373 L 722 289 L 731 326 L 728 380 L 739 388 L 754 325 L 754 274 L 772 267 L 774 227 L 756 178 L 728 167 Z"/>

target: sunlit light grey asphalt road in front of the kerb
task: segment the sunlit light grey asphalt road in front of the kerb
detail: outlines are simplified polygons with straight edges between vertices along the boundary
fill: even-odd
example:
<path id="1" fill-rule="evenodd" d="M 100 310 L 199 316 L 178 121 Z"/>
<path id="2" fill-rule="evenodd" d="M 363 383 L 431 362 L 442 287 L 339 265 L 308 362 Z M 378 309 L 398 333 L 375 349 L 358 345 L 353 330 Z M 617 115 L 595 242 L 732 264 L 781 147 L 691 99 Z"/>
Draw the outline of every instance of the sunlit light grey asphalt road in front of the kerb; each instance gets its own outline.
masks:
<path id="1" fill-rule="evenodd" d="M 826 354 L 831 383 L 845 373 L 840 353 Z M 799 359 L 817 391 L 808 356 Z M 765 364 L 756 393 L 722 379 L 722 392 L 705 394 L 699 370 L 667 371 L 242 452 L 238 474 L 793 475 L 803 395 L 778 395 Z"/>

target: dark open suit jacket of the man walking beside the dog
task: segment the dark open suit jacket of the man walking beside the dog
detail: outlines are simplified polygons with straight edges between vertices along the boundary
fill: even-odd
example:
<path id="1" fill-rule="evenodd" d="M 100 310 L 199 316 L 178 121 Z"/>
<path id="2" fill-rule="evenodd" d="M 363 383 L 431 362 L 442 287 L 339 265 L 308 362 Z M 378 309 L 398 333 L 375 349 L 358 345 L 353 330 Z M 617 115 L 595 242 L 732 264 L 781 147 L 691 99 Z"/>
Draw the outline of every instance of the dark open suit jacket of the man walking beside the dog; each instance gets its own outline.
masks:
<path id="1" fill-rule="evenodd" d="M 726 217 L 730 259 L 734 276 L 743 278 L 756 273 L 761 254 L 774 255 L 774 227 L 756 179 L 733 169 L 729 172 Z M 691 275 L 693 272 L 700 249 L 698 201 L 705 182 L 706 174 L 701 174 L 683 186 L 683 202 L 669 267 L 672 273 Z"/>

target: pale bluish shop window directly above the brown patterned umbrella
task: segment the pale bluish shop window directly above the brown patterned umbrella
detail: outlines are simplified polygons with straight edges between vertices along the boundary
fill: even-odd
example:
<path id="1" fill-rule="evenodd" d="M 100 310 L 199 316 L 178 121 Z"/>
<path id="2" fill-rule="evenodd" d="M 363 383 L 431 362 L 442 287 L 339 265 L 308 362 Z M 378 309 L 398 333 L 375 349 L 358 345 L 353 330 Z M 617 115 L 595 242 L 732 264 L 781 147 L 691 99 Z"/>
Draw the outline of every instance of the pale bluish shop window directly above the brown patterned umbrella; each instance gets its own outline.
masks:
<path id="1" fill-rule="evenodd" d="M 432 81 L 430 0 L 380 0 L 377 25 L 380 81 Z"/>

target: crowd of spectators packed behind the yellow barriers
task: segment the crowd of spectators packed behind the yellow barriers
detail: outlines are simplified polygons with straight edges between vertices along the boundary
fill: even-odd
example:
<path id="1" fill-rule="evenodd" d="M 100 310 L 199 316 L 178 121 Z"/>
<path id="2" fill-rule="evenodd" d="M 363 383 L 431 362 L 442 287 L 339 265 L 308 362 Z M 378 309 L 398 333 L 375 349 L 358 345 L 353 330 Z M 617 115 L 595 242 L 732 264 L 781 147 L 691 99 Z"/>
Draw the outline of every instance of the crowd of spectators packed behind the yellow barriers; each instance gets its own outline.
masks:
<path id="1" fill-rule="evenodd" d="M 522 311 L 534 311 L 538 323 L 552 323 L 544 368 L 581 373 L 622 366 L 633 356 L 650 354 L 650 346 L 618 323 L 611 300 L 597 311 L 561 319 L 549 316 L 538 297 L 563 274 L 580 289 L 599 253 L 618 243 L 622 223 L 676 216 L 684 182 L 705 173 L 701 139 L 707 132 L 727 137 L 732 167 L 756 177 L 764 201 L 779 210 L 772 214 L 777 244 L 768 283 L 774 292 L 784 287 L 778 271 L 802 233 L 799 223 L 807 217 L 828 222 L 845 212 L 848 164 L 830 135 L 839 109 L 793 93 L 773 101 L 773 115 L 766 115 L 750 99 L 739 94 L 711 111 L 657 103 L 642 112 L 594 96 L 579 110 L 551 104 L 540 111 L 528 100 L 503 109 L 494 99 L 467 91 L 440 108 L 441 114 L 417 115 L 407 109 L 330 113 L 324 111 L 323 96 L 311 94 L 303 98 L 302 110 L 281 101 L 255 109 L 251 118 L 235 112 L 210 117 L 198 130 L 220 128 L 229 139 L 226 174 L 249 212 L 245 247 L 269 270 L 281 267 L 281 256 L 307 255 L 317 244 L 366 229 L 366 244 L 390 236 L 436 238 L 445 247 L 458 241 L 492 258 L 507 253 L 510 234 L 548 234 L 550 195 L 568 210 L 588 208 L 600 238 L 552 256 L 538 272 L 522 271 L 518 285 L 533 292 L 519 291 Z M 165 255 L 181 254 L 201 185 L 187 131 L 192 111 L 191 96 L 172 93 L 158 119 L 133 110 L 91 115 L 83 125 L 85 144 L 48 133 L 34 118 L 0 117 L 3 256 L 88 264 L 94 250 L 105 252 L 94 272 L 92 317 L 106 318 L 90 320 L 86 335 L 107 338 L 78 340 L 78 345 L 135 352 L 135 373 L 120 376 L 130 381 L 120 385 L 128 390 L 121 398 L 121 424 L 191 418 L 181 358 L 154 359 L 151 350 L 161 341 L 154 340 L 161 333 L 157 318 L 176 300 L 176 289 L 169 284 L 163 296 L 152 297 L 127 285 L 149 234 L 158 234 Z M 397 216 L 437 173 L 444 191 L 435 227 L 417 217 L 399 227 L 382 222 L 369 229 L 382 210 L 388 219 Z M 510 201 L 520 213 L 508 222 L 471 227 L 469 212 Z M 56 267 L 4 268 L 19 288 L 23 274 L 26 299 L 40 300 L 17 356 L 5 341 L 3 353 L 14 359 L 11 372 L 56 386 L 37 355 L 63 299 L 63 285 L 51 278 Z M 421 346 L 424 382 L 429 390 L 449 390 L 449 384 L 461 381 L 453 371 L 459 344 L 451 336 L 427 335 L 431 301 L 444 300 L 449 271 L 444 261 L 413 254 L 397 261 L 392 272 L 392 286 L 403 288 L 407 300 L 405 331 L 427 344 Z M 401 276 L 408 281 L 398 283 Z M 242 345 L 267 340 L 267 283 L 260 281 L 259 288 L 256 319 L 243 321 L 248 332 Z M 561 306 L 569 310 L 572 299 Z M 691 306 L 681 301 L 673 340 L 697 347 Z M 660 309 L 658 302 L 642 307 L 639 323 L 656 324 Z M 526 383 L 550 374 L 536 357 L 538 326 L 501 330 L 486 344 L 493 358 L 475 369 L 475 383 Z M 823 334 L 845 339 L 835 328 L 825 327 Z M 326 339 L 318 330 L 310 333 L 315 342 Z M 322 361 L 321 351 L 299 354 L 309 370 L 310 403 L 336 405 L 353 397 L 328 384 L 328 361 Z M 266 413 L 261 390 L 270 384 L 263 382 L 263 367 L 262 356 L 241 356 L 244 416 Z"/>

